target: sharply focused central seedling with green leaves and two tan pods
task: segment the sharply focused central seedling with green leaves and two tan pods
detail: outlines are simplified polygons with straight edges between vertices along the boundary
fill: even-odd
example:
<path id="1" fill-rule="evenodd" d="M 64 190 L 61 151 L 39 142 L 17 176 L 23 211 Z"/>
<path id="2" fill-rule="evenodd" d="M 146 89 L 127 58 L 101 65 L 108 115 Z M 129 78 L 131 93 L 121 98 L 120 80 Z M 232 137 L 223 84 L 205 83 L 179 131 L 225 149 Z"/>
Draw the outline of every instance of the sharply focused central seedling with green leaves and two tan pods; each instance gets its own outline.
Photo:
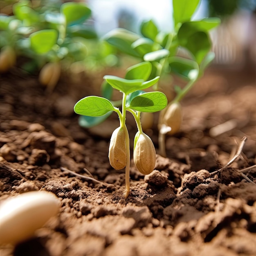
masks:
<path id="1" fill-rule="evenodd" d="M 162 92 L 144 92 L 157 83 L 159 76 L 147 81 L 152 65 L 142 62 L 128 68 L 125 78 L 117 76 L 104 76 L 104 79 L 122 94 L 121 110 L 106 98 L 88 96 L 76 103 L 74 111 L 79 115 L 99 117 L 110 111 L 117 112 L 120 126 L 113 132 L 110 139 L 109 160 L 113 168 L 120 170 L 126 168 L 126 191 L 124 197 L 130 193 L 130 139 L 126 127 L 126 111 L 135 118 L 138 132 L 134 139 L 134 162 L 137 169 L 143 174 L 151 173 L 155 168 L 155 147 L 152 140 L 146 135 L 140 122 L 141 112 L 157 112 L 167 105 L 167 99 Z"/>

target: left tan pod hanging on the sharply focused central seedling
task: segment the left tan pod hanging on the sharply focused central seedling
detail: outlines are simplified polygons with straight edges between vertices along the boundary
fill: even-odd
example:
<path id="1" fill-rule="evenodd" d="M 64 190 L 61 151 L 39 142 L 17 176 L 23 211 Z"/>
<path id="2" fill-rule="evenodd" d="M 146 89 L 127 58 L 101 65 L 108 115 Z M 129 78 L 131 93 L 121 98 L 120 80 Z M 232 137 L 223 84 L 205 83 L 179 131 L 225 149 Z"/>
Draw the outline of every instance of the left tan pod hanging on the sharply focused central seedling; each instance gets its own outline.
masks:
<path id="1" fill-rule="evenodd" d="M 124 128 L 118 127 L 112 133 L 108 151 L 108 158 L 111 166 L 116 170 L 121 170 L 126 166 L 126 144 Z"/>

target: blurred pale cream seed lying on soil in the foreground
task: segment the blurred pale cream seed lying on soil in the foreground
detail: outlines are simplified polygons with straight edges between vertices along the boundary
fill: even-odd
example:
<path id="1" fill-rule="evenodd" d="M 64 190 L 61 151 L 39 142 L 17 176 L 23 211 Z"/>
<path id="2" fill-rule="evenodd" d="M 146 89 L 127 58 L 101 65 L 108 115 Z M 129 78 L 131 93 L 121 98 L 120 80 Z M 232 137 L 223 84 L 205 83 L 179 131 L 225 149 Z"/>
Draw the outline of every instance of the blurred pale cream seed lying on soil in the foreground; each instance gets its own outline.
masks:
<path id="1" fill-rule="evenodd" d="M 47 191 L 30 191 L 0 204 L 0 244 L 16 244 L 31 238 L 36 229 L 55 216 L 61 202 Z"/>

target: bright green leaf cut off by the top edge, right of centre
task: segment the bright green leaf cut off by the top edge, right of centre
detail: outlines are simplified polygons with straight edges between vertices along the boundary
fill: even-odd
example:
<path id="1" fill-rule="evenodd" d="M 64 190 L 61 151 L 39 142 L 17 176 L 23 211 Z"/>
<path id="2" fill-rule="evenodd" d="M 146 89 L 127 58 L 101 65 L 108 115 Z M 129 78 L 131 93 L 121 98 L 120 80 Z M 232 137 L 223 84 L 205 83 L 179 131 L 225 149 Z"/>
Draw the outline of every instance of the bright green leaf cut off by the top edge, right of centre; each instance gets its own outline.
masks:
<path id="1" fill-rule="evenodd" d="M 200 0 L 173 0 L 173 18 L 175 26 L 180 22 L 189 21 Z"/>

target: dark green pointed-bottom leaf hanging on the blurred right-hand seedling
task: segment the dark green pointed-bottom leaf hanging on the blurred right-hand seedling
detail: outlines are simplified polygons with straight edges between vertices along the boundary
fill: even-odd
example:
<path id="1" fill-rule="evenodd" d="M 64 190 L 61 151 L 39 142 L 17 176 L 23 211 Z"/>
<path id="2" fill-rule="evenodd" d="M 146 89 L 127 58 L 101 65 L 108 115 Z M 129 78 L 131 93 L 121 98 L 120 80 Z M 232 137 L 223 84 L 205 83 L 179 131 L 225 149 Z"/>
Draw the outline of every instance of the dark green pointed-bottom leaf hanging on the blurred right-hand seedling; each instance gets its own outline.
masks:
<path id="1" fill-rule="evenodd" d="M 197 63 L 200 64 L 211 49 L 211 40 L 208 33 L 196 32 L 189 37 L 185 47 L 193 54 Z"/>

